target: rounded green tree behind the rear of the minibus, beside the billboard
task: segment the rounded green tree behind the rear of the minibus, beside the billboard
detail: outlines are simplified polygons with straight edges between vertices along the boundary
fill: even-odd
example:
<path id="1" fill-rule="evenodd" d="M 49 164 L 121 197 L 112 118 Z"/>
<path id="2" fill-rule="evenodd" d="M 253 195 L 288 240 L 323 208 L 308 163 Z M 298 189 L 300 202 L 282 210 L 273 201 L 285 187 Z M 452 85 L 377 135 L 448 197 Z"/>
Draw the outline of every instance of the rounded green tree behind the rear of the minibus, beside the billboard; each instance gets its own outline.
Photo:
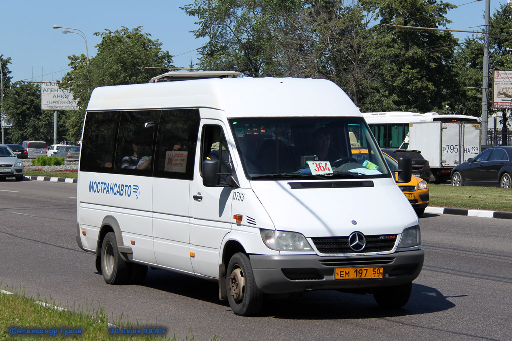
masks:
<path id="1" fill-rule="evenodd" d="M 123 27 L 121 30 L 105 30 L 94 35 L 102 39 L 96 46 L 97 55 L 90 59 L 89 66 L 84 55 L 70 56 L 73 70 L 65 76 L 61 85 L 73 93 L 80 107 L 80 110 L 67 113 L 68 141 L 80 139 L 84 111 L 94 88 L 147 83 L 163 73 L 158 68 L 174 67 L 172 56 L 161 49 L 162 43 L 158 39 L 153 40 L 151 34 L 142 32 L 142 27 L 132 30 Z"/>

